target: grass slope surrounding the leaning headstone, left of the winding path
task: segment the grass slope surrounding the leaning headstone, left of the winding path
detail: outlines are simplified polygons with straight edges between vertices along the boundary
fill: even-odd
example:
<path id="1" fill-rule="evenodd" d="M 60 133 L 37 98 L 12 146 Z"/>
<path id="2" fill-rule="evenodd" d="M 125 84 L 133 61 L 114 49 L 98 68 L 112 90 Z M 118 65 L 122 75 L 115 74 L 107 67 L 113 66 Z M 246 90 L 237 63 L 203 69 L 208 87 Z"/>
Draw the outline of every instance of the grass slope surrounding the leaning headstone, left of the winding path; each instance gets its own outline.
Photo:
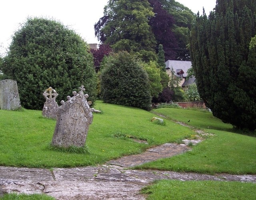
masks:
<path id="1" fill-rule="evenodd" d="M 97 165 L 193 134 L 187 127 L 169 120 L 165 125 L 154 124 L 150 120 L 156 115 L 138 108 L 100 101 L 95 108 L 103 114 L 94 114 L 86 139 L 88 153 L 51 148 L 56 120 L 43 118 L 41 111 L 0 110 L 0 165 L 37 168 Z M 148 144 L 137 143 L 133 138 L 144 139 Z"/>

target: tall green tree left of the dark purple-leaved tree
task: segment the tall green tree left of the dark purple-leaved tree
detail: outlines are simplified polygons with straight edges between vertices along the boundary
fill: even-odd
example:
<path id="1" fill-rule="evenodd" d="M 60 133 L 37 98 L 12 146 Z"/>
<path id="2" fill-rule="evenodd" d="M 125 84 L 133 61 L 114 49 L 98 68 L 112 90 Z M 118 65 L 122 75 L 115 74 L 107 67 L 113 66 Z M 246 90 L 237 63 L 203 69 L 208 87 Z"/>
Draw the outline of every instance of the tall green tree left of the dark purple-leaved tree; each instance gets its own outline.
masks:
<path id="1" fill-rule="evenodd" d="M 147 0 L 109 0 L 104 16 L 94 25 L 96 37 L 114 52 L 138 52 L 145 61 L 155 59 L 156 40 L 148 25 L 154 16 Z"/>

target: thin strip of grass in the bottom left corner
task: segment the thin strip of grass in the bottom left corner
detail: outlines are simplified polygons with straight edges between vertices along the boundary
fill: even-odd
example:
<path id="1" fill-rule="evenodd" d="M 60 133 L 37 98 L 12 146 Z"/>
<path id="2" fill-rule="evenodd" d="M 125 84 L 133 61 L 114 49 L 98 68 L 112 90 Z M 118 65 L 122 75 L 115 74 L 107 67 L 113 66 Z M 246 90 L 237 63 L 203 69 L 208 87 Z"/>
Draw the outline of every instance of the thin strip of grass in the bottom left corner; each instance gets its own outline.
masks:
<path id="1" fill-rule="evenodd" d="M 45 194 L 10 193 L 10 194 L 4 194 L 4 196 L 0 197 L 0 200 L 55 200 L 55 198 Z"/>

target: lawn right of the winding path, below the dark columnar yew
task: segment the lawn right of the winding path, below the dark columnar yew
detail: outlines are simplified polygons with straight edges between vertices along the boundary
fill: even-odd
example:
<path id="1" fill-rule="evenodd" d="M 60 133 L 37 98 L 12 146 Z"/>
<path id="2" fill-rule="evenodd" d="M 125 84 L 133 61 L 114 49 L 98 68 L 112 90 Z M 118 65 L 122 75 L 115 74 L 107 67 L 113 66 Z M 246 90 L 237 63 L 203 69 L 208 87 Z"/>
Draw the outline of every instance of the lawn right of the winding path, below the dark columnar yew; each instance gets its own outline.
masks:
<path id="1" fill-rule="evenodd" d="M 256 174 L 256 137 L 238 134 L 230 124 L 224 124 L 211 113 L 164 108 L 154 112 L 186 122 L 208 133 L 214 133 L 192 151 L 135 167 L 197 173 Z M 190 120 L 190 122 L 188 122 Z"/>

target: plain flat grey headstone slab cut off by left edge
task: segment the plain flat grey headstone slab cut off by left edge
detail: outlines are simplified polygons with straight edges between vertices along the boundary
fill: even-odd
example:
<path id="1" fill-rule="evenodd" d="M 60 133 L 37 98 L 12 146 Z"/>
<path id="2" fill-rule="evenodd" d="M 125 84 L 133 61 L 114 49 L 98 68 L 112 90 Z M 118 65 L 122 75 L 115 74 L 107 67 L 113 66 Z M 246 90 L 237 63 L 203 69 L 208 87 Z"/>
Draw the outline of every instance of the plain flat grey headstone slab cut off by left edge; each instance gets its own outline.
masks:
<path id="1" fill-rule="evenodd" d="M 0 81 L 0 108 L 2 110 L 17 110 L 21 107 L 16 80 Z"/>

